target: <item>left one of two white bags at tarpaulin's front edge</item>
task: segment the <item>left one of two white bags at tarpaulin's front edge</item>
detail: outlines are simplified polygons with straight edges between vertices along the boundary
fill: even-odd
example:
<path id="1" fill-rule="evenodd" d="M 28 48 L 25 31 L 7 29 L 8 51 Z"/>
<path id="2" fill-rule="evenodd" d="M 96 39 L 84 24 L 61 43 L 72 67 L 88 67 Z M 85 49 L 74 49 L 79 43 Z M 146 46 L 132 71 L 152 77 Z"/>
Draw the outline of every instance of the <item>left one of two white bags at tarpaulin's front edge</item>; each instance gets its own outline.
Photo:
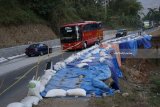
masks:
<path id="1" fill-rule="evenodd" d="M 63 89 L 53 89 L 48 91 L 45 97 L 65 97 L 66 93 Z"/>

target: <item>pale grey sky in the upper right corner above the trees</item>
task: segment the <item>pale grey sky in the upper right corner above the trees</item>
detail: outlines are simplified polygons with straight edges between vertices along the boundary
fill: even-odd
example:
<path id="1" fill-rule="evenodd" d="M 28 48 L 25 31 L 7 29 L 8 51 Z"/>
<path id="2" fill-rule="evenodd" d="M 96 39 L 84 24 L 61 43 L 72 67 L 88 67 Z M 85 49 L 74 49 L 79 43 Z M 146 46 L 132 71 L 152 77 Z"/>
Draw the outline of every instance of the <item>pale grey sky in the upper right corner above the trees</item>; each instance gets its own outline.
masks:
<path id="1" fill-rule="evenodd" d="M 160 0 L 138 0 L 142 2 L 144 7 L 143 12 L 146 14 L 148 12 L 148 8 L 158 8 L 160 6 Z"/>

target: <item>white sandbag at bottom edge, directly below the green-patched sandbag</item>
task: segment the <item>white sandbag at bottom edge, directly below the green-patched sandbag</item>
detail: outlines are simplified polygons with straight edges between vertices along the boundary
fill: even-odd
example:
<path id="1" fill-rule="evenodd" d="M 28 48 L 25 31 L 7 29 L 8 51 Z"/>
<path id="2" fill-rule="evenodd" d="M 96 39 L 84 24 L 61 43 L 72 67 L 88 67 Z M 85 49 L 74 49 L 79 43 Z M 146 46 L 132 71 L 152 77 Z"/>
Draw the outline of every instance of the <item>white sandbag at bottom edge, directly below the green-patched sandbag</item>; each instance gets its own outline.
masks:
<path id="1" fill-rule="evenodd" d="M 25 105 L 25 107 L 32 107 L 32 105 L 38 105 L 40 99 L 36 96 L 27 96 L 21 100 L 21 103 Z"/>

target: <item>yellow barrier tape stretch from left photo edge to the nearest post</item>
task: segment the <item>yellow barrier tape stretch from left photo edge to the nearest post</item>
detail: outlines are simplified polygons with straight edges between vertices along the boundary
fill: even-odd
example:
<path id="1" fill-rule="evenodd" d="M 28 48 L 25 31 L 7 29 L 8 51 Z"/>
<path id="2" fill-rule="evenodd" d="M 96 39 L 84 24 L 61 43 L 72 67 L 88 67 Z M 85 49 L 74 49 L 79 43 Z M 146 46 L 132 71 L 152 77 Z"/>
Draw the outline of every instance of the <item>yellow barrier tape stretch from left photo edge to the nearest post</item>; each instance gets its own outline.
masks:
<path id="1" fill-rule="evenodd" d="M 12 85 L 10 85 L 8 88 L 6 88 L 4 91 L 0 93 L 0 96 L 7 92 L 9 89 L 11 89 L 14 85 L 16 85 L 20 80 L 22 80 L 24 77 L 26 77 L 36 66 L 33 66 L 30 70 L 28 70 L 21 78 L 19 78 L 16 82 L 14 82 Z"/>

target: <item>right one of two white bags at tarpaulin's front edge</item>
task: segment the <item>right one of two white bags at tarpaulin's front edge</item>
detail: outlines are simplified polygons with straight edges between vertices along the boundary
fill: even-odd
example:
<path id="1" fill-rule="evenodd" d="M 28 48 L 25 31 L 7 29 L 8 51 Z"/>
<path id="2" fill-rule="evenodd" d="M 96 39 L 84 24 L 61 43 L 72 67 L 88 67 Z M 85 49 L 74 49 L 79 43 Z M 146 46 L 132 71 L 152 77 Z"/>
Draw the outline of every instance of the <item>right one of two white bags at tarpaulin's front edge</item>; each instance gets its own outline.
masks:
<path id="1" fill-rule="evenodd" d="M 86 91 L 81 88 L 67 90 L 68 96 L 86 96 Z"/>

